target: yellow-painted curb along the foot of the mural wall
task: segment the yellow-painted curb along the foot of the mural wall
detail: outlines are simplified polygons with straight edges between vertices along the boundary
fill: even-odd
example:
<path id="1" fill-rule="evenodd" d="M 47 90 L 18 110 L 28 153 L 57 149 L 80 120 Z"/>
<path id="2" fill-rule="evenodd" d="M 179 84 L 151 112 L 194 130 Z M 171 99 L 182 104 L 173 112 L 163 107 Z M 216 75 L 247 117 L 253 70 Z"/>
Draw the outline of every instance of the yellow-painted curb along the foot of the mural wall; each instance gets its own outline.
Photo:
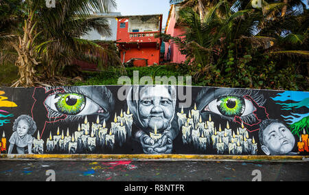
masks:
<path id="1" fill-rule="evenodd" d="M 0 154 L 0 160 L 43 161 L 308 161 L 309 156 L 234 156 L 197 154 Z"/>

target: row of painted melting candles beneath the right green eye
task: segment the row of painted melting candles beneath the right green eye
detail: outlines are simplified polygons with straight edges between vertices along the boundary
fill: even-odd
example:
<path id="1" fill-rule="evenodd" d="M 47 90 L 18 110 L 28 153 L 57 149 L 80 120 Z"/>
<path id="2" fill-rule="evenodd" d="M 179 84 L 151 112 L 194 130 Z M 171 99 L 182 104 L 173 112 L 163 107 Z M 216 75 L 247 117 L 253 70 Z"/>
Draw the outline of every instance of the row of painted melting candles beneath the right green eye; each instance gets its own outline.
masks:
<path id="1" fill-rule="evenodd" d="M 181 109 L 181 113 L 177 113 L 179 117 L 179 126 L 181 127 L 183 134 L 183 143 L 193 143 L 194 146 L 206 151 L 207 146 L 211 146 L 216 149 L 217 154 L 252 154 L 255 155 L 258 152 L 258 144 L 255 143 L 255 139 L 249 138 L 249 133 L 244 125 L 242 128 L 237 129 L 235 133 L 229 128 L 229 122 L 227 127 L 223 131 L 221 125 L 217 131 L 214 127 L 214 122 L 211 122 L 211 115 L 209 120 L 203 122 L 200 111 L 194 109 L 189 111 L 188 117 Z"/>

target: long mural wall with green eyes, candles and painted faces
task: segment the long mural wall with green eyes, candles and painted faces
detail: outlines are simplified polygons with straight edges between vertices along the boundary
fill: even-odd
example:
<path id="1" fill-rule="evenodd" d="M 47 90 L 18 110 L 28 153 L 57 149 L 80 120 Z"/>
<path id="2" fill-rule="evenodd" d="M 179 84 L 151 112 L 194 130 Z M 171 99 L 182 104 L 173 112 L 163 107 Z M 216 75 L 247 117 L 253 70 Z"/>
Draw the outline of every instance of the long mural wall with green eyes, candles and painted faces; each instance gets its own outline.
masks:
<path id="1" fill-rule="evenodd" d="M 308 154 L 308 92 L 179 87 L 0 89 L 1 153 Z"/>

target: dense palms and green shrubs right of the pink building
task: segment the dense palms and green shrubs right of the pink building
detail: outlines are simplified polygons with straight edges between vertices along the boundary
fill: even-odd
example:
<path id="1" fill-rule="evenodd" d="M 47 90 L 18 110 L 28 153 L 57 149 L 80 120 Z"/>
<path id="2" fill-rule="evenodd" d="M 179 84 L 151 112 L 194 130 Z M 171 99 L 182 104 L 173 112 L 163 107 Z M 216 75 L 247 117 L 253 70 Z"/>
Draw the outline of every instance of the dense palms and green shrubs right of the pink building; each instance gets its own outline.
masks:
<path id="1" fill-rule="evenodd" d="M 308 10 L 299 13 L 300 1 L 251 3 L 185 1 L 185 38 L 160 37 L 179 46 L 182 72 L 199 85 L 308 91 Z"/>

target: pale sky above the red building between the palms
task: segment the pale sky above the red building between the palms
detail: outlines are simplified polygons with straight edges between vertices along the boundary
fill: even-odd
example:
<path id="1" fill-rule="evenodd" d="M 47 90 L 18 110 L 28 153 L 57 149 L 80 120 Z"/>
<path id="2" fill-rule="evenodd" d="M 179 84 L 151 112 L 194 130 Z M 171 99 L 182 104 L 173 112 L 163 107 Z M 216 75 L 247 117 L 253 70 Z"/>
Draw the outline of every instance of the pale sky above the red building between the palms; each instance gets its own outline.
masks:
<path id="1" fill-rule="evenodd" d="M 117 10 L 115 12 L 121 12 L 123 16 L 163 14 L 163 27 L 168 20 L 169 0 L 116 0 L 116 3 Z"/>

